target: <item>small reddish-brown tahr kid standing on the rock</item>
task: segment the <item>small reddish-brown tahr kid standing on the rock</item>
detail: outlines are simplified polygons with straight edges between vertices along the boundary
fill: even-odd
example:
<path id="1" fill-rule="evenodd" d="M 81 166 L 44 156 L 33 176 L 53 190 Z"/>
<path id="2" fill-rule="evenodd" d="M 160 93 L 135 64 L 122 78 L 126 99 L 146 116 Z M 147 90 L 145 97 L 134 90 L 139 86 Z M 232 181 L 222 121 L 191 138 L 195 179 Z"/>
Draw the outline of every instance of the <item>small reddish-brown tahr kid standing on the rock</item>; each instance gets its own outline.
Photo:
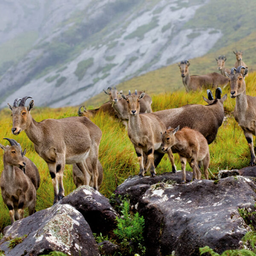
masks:
<path id="1" fill-rule="evenodd" d="M 162 134 L 162 150 L 166 152 L 169 159 L 174 163 L 172 150 L 179 154 L 182 168 L 182 183 L 186 183 L 186 161 L 193 170 L 193 179 L 201 179 L 201 171 L 198 163 L 204 166 L 204 176 L 208 180 L 208 167 L 210 162 L 209 146 L 205 137 L 199 132 L 188 127 L 180 126 L 173 129 L 168 128 Z"/>

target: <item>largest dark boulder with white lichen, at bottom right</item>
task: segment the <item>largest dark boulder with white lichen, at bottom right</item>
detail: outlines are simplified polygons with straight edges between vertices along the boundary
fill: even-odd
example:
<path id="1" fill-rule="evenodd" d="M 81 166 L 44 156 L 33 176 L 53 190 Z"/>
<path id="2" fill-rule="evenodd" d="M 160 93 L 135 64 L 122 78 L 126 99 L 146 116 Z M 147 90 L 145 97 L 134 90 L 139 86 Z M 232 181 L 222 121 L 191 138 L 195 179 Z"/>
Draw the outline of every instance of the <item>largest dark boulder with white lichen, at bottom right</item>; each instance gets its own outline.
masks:
<path id="1" fill-rule="evenodd" d="M 254 178 L 241 176 L 152 185 L 137 207 L 145 218 L 146 254 L 198 256 L 206 245 L 218 253 L 241 247 L 250 228 L 238 208 L 254 211 L 255 191 Z"/>

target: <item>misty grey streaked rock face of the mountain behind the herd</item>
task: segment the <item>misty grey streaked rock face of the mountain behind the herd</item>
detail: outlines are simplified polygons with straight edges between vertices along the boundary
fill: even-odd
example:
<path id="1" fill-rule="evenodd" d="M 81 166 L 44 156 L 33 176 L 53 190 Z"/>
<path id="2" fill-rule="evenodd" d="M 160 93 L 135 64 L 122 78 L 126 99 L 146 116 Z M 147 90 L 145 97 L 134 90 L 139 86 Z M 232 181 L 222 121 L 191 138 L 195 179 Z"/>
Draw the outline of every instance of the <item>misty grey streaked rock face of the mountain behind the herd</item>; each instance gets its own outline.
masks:
<path id="1" fill-rule="evenodd" d="M 182 29 L 208 1 L 184 2 L 0 3 L 2 41 L 31 30 L 37 35 L 27 54 L 1 77 L 0 108 L 24 95 L 32 96 L 37 106 L 78 105 L 120 81 L 204 55 L 222 33 Z"/>

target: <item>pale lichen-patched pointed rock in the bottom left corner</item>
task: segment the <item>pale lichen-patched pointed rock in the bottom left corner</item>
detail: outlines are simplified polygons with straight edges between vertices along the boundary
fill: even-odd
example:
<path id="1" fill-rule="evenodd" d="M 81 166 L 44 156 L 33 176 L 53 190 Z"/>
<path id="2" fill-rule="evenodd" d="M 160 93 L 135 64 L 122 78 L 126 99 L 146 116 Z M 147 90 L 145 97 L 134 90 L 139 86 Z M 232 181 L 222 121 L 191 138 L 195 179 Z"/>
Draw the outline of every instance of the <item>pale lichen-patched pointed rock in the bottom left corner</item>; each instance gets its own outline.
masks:
<path id="1" fill-rule="evenodd" d="M 27 235 L 13 249 L 6 238 Z M 72 256 L 99 256 L 99 249 L 84 217 L 74 207 L 55 205 L 15 221 L 4 230 L 0 250 L 6 256 L 36 256 L 61 251 Z"/>

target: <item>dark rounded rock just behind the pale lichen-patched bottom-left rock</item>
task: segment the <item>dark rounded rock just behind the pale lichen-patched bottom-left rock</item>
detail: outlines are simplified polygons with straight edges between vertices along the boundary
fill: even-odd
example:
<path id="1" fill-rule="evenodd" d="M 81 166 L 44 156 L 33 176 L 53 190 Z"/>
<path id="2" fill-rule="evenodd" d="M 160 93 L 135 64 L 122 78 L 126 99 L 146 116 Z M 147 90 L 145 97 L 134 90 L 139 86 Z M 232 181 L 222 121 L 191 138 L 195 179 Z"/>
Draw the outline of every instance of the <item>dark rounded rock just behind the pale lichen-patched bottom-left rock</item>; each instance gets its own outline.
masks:
<path id="1" fill-rule="evenodd" d="M 93 233 L 107 235 L 116 227 L 117 212 L 99 191 L 90 186 L 80 186 L 58 204 L 70 204 L 84 216 Z"/>

